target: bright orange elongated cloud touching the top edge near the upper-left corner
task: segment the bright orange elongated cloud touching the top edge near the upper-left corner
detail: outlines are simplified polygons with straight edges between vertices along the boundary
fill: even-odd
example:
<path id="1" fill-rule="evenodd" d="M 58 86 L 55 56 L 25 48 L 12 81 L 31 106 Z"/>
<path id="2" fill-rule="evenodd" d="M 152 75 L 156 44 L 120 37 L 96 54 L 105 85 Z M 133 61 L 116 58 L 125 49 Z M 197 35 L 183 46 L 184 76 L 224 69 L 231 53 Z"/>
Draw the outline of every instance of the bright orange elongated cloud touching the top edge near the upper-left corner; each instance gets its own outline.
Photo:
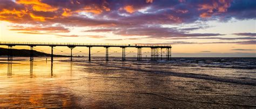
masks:
<path id="1" fill-rule="evenodd" d="M 30 5 L 34 11 L 56 11 L 58 8 L 54 8 L 51 5 L 42 3 L 40 0 L 17 0 L 16 3 Z"/>

